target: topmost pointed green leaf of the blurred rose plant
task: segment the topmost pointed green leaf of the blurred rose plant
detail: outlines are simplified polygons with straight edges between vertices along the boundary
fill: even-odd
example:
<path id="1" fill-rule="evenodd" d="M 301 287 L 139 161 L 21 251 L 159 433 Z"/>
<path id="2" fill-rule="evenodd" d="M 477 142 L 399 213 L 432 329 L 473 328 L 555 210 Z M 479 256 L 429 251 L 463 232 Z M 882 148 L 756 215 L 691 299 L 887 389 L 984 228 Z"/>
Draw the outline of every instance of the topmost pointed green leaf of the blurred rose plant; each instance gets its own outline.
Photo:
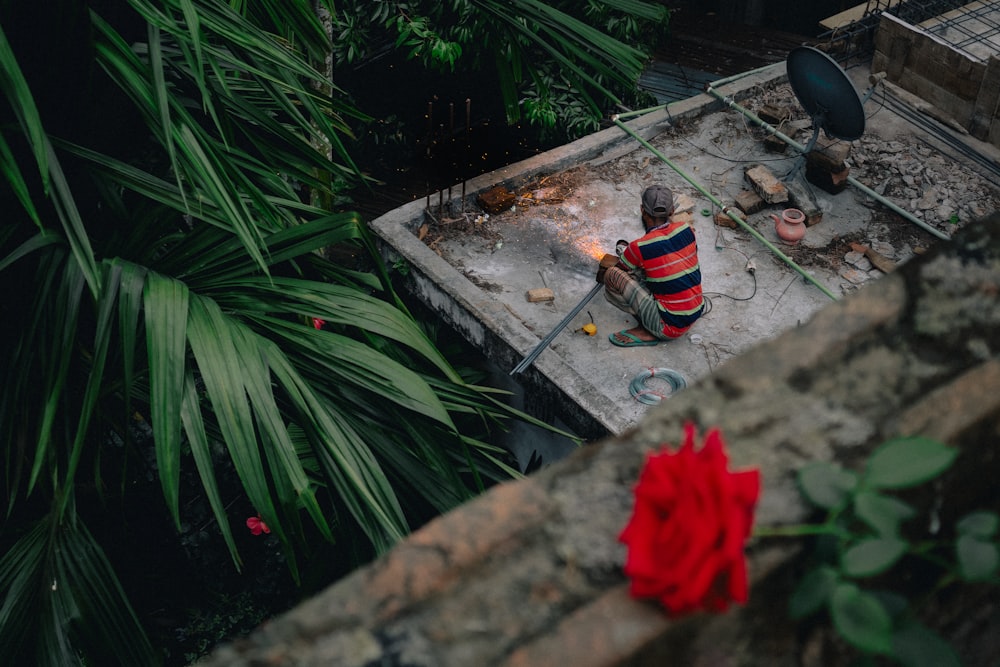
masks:
<path id="1" fill-rule="evenodd" d="M 872 452 L 866 486 L 903 489 L 934 479 L 954 462 L 958 450 L 930 438 L 896 438 Z"/>

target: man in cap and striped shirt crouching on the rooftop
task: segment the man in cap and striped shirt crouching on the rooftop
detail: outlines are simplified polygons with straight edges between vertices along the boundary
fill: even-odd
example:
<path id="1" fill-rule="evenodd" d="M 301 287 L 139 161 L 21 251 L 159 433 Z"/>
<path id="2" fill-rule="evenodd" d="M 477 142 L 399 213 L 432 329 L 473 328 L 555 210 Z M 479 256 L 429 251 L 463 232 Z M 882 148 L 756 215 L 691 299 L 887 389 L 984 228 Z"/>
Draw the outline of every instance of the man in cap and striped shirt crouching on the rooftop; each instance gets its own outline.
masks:
<path id="1" fill-rule="evenodd" d="M 646 233 L 631 243 L 618 242 L 618 263 L 604 274 L 604 296 L 635 316 L 638 326 L 611 334 L 619 347 L 656 345 L 679 338 L 704 312 L 701 269 L 694 230 L 671 222 L 674 196 L 653 185 L 642 193 Z"/>

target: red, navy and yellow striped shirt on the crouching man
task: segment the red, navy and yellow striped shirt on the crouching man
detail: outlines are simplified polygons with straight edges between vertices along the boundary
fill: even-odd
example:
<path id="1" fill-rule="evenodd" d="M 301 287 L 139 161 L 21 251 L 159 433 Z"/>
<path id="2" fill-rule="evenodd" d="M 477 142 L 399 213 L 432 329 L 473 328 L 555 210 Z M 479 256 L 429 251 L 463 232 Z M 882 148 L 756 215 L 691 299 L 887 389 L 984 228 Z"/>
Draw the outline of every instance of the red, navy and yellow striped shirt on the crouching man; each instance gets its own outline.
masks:
<path id="1" fill-rule="evenodd" d="M 690 327 L 701 316 L 701 269 L 694 230 L 683 221 L 668 222 L 628 244 L 622 263 L 642 269 L 643 282 L 656 297 L 663 323 Z"/>

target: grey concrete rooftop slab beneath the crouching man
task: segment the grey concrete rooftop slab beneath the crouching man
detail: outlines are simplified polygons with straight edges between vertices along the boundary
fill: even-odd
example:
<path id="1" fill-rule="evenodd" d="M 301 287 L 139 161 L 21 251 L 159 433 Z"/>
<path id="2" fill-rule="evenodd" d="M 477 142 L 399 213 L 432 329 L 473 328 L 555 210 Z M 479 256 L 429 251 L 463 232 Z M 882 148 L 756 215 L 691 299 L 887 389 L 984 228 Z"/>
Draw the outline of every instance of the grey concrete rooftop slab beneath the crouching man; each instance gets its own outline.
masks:
<path id="1" fill-rule="evenodd" d="M 849 74 L 863 95 L 867 73 Z M 784 79 L 784 63 L 779 63 L 717 89 L 740 99 Z M 866 132 L 891 136 L 912 131 L 890 113 L 875 114 L 873 121 L 878 126 L 869 125 Z M 899 128 L 893 127 L 896 123 Z M 546 418 L 564 419 L 584 437 L 602 431 L 622 433 L 643 418 L 652 406 L 637 400 L 630 386 L 649 369 L 669 369 L 690 385 L 758 342 L 803 324 L 832 302 L 830 295 L 745 230 L 717 226 L 716 207 L 692 184 L 730 202 L 747 187 L 743 171 L 748 162 L 766 161 L 781 175 L 795 166 L 794 151 L 778 158 L 768 153 L 747 130 L 742 114 L 707 94 L 639 116 L 627 125 L 674 167 L 630 134 L 611 127 L 484 174 L 464 188 L 458 184 L 451 197 L 448 192 L 432 196 L 432 217 L 426 215 L 428 200 L 418 200 L 372 222 L 389 263 L 407 267 L 409 288 L 501 368 L 510 370 L 591 292 L 598 258 L 614 252 L 616 239 L 641 235 L 642 190 L 652 183 L 673 189 L 692 215 L 711 311 L 684 338 L 624 349 L 612 345 L 608 335 L 634 326 L 635 320 L 598 294 L 530 368 L 513 378 L 524 387 L 529 409 Z M 519 199 L 511 209 L 481 219 L 475 195 L 497 185 L 517 193 Z M 463 191 L 464 201 L 459 196 Z M 814 192 L 823 219 L 809 228 L 803 246 L 823 252 L 833 239 L 870 224 L 872 202 L 866 205 L 865 195 L 855 188 L 836 195 L 818 188 Z M 771 214 L 782 208 L 772 205 L 748 218 L 779 249 Z M 442 224 L 443 220 L 452 222 Z M 467 231 L 439 233 L 456 224 Z M 746 270 L 749 260 L 756 265 L 753 275 Z M 836 298 L 850 289 L 833 271 L 806 268 Z M 551 289 L 554 300 L 529 302 L 527 292 L 538 288 Z M 597 327 L 594 336 L 582 331 L 590 322 Z M 663 401 L 670 400 L 668 383 L 653 377 L 645 387 L 662 394 Z"/>

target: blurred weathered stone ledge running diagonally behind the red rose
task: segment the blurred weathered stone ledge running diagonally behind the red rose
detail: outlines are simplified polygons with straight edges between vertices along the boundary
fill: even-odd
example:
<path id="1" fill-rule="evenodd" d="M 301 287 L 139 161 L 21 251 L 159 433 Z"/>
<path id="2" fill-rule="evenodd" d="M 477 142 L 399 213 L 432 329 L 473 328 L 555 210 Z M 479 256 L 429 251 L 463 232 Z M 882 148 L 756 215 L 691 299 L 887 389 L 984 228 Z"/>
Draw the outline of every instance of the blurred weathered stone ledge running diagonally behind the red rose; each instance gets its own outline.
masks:
<path id="1" fill-rule="evenodd" d="M 846 664 L 823 632 L 787 620 L 795 541 L 750 544 L 751 600 L 730 613 L 671 620 L 628 597 L 617 535 L 632 485 L 645 453 L 689 420 L 722 430 L 733 467 L 760 468 L 759 525 L 806 516 L 802 464 L 857 465 L 901 434 L 961 450 L 937 495 L 915 500 L 939 503 L 942 525 L 1000 510 L 1000 216 L 730 361 L 638 428 L 430 523 L 202 667 Z M 950 588 L 926 619 L 972 666 L 1000 654 L 982 588 Z"/>

